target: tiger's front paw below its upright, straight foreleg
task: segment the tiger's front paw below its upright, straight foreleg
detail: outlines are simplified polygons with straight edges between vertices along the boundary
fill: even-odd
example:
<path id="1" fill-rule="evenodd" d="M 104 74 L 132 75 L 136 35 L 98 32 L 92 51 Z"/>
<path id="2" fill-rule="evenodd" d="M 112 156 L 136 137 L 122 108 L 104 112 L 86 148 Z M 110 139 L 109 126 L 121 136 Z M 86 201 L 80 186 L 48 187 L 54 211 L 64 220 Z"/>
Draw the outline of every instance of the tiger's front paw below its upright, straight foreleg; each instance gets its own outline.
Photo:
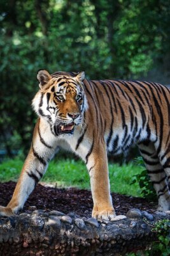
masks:
<path id="1" fill-rule="evenodd" d="M 114 209 L 104 209 L 102 211 L 93 209 L 92 217 L 97 220 L 112 220 L 115 218 L 115 210 Z"/>

